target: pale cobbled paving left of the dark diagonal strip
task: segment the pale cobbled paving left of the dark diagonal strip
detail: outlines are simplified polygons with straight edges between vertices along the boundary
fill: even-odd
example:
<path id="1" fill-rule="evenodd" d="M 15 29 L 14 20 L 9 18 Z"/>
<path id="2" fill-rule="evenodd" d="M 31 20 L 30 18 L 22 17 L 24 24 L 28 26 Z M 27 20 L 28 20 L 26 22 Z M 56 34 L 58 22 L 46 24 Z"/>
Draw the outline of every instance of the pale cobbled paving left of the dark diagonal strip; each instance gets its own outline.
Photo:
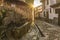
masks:
<path id="1" fill-rule="evenodd" d="M 24 35 L 20 40 L 39 40 L 40 34 L 36 27 L 31 27 L 26 35 Z"/>

